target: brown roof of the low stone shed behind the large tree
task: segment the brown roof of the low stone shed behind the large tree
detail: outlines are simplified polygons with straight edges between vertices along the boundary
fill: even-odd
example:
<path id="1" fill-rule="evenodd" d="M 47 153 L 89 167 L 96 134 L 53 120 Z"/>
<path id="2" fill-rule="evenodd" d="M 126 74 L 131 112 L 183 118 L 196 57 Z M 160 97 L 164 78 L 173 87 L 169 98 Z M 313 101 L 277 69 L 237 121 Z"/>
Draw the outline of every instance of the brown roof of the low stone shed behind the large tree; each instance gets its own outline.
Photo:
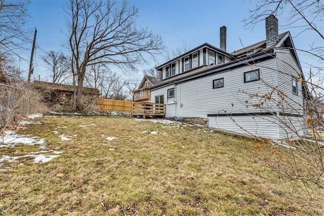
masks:
<path id="1" fill-rule="evenodd" d="M 34 81 L 32 85 L 34 88 L 41 89 L 41 90 L 52 89 L 52 90 L 61 90 L 61 91 L 74 91 L 72 85 L 49 83 L 44 81 Z M 82 92 L 88 94 L 98 94 L 98 95 L 101 94 L 98 89 L 88 88 L 88 87 L 84 87 Z"/>

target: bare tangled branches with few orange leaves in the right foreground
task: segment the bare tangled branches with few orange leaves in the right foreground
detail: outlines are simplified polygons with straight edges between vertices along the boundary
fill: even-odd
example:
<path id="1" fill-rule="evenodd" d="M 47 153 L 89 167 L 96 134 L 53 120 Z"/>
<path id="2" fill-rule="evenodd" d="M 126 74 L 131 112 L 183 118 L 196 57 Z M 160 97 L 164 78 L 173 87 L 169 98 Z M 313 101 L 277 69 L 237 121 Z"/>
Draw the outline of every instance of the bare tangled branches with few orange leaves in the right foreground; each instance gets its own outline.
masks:
<path id="1" fill-rule="evenodd" d="M 278 60 L 278 63 L 285 65 L 285 70 L 280 68 L 263 68 L 276 70 L 276 73 L 278 74 L 288 75 L 287 70 L 294 71 L 294 73 L 298 74 L 295 79 L 302 85 L 305 104 L 296 97 L 291 97 L 281 91 L 278 86 L 264 81 L 262 78 L 260 78 L 260 80 L 268 87 L 268 92 L 258 94 L 258 92 L 254 90 L 241 90 L 238 94 L 242 93 L 248 96 L 248 100 L 242 101 L 242 103 L 245 103 L 246 107 L 254 107 L 262 112 L 268 113 L 273 112 L 273 109 L 275 108 L 284 114 L 296 113 L 299 116 L 306 116 L 304 121 L 301 122 L 285 115 L 273 115 L 272 124 L 280 125 L 286 133 L 286 140 L 281 140 L 281 143 L 278 142 L 278 144 L 286 146 L 289 148 L 289 151 L 281 152 L 280 150 L 267 145 L 273 142 L 273 140 L 256 137 L 258 141 L 261 142 L 261 145 L 256 146 L 253 155 L 250 156 L 253 157 L 257 163 L 264 165 L 265 168 L 276 171 L 279 176 L 284 178 L 286 181 L 291 183 L 296 182 L 296 189 L 301 189 L 300 186 L 303 185 L 306 192 L 311 196 L 311 194 L 316 191 L 313 189 L 324 189 L 324 160 L 322 152 L 324 140 L 323 136 L 319 134 L 319 131 L 317 130 L 318 126 L 324 127 L 322 114 L 318 114 L 323 110 L 323 104 L 321 101 L 324 92 L 322 86 L 324 37 L 323 29 L 319 28 L 323 22 L 324 4 L 322 1 L 317 0 L 259 1 L 255 9 L 251 10 L 250 17 L 245 20 L 246 27 L 253 28 L 256 23 L 263 21 L 264 17 L 272 14 L 282 14 L 284 11 L 290 11 L 289 15 L 286 17 L 286 24 L 284 27 L 299 28 L 299 34 L 306 31 L 312 31 L 312 35 L 315 35 L 315 37 L 317 37 L 321 42 L 321 44 L 316 44 L 313 41 L 315 39 L 310 39 L 309 49 L 296 49 L 300 54 L 310 57 L 308 60 L 312 59 L 318 64 L 301 62 L 306 68 L 310 67 L 307 77 L 304 77 L 302 73 L 299 73 L 299 71 L 296 70 L 296 67 L 291 65 L 290 62 L 282 59 Z M 260 65 L 255 63 L 250 64 L 250 66 L 255 67 Z M 228 116 L 240 129 L 245 130 L 251 135 L 255 135 L 251 130 L 248 131 L 245 127 L 236 123 L 235 119 L 230 116 L 230 111 L 224 112 L 228 113 Z M 308 126 L 307 136 L 300 134 L 300 127 L 305 125 L 305 123 Z M 257 154 L 258 152 L 261 152 L 261 150 L 265 153 Z M 305 202 L 308 201 L 305 200 Z"/>

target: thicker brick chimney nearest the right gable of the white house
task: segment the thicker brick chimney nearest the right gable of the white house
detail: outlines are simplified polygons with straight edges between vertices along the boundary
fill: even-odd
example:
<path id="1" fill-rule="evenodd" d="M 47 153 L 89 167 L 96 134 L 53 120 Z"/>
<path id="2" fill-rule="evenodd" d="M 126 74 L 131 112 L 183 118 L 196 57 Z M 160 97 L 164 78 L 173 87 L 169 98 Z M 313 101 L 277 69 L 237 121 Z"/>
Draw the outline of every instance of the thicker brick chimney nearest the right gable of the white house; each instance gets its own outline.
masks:
<path id="1" fill-rule="evenodd" d="M 278 20 L 274 15 L 265 18 L 266 47 L 272 47 L 279 41 Z"/>

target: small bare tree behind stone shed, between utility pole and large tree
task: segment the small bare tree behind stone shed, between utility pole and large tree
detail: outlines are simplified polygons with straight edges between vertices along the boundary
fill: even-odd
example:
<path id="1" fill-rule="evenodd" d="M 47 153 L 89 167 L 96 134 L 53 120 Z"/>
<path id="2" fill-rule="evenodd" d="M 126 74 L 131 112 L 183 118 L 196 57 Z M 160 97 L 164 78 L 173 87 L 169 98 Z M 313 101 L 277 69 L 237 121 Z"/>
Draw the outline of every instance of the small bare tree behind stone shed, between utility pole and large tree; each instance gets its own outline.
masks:
<path id="1" fill-rule="evenodd" d="M 50 51 L 41 58 L 52 71 L 53 83 L 63 83 L 68 78 L 70 62 L 63 53 Z"/>

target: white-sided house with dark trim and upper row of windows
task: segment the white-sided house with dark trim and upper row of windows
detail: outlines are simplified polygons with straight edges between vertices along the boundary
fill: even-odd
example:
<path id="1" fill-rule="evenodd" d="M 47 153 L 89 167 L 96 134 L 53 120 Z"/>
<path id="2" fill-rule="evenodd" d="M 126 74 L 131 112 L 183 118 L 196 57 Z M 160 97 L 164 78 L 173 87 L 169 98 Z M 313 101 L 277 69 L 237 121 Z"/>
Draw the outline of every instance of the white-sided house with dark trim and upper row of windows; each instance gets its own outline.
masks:
<path id="1" fill-rule="evenodd" d="M 165 75 L 174 62 L 179 73 Z M 304 133 L 306 93 L 289 32 L 267 33 L 233 53 L 203 44 L 156 69 L 163 80 L 151 88 L 151 102 L 163 95 L 167 118 L 203 118 L 210 127 L 276 140 Z"/>

